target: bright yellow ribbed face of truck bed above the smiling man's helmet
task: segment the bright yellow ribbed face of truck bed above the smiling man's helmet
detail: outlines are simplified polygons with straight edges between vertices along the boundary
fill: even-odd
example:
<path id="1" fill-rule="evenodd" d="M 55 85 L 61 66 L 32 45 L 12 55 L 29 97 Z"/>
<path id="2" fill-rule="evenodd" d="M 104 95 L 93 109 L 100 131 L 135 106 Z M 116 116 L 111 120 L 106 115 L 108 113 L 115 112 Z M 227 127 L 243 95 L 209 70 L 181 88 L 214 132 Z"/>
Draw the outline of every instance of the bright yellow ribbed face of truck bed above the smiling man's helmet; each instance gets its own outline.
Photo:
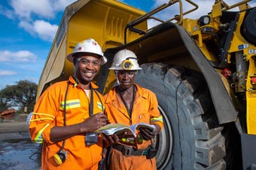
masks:
<path id="1" fill-rule="evenodd" d="M 114 43 L 115 46 L 120 45 L 123 43 L 126 24 L 142 14 L 145 12 L 118 1 L 90 1 L 70 19 L 68 42 L 78 43 L 93 37 L 103 50 L 108 48 L 108 43 L 111 44 L 110 47 L 114 47 Z M 146 23 L 142 27 L 146 28 Z M 138 37 L 139 34 L 132 33 L 128 41 Z M 73 48 L 74 46 L 68 46 L 67 52 L 72 52 Z"/>

